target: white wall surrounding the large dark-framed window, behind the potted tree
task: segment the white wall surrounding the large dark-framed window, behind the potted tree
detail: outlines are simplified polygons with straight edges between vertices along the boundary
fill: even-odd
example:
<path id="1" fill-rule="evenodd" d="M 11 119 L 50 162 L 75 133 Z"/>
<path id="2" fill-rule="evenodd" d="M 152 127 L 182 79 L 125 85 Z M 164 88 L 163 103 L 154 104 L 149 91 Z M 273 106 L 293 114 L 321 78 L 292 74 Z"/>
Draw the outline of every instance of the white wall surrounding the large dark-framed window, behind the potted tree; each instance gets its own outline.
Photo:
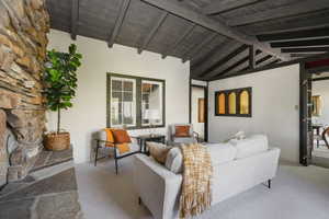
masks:
<path id="1" fill-rule="evenodd" d="M 148 51 L 138 55 L 137 49 L 121 45 L 110 49 L 105 42 L 82 36 L 73 42 L 69 34 L 55 30 L 48 37 L 48 49 L 65 51 L 75 43 L 83 55 L 73 107 L 63 112 L 61 120 L 71 134 L 76 162 L 90 160 L 92 135 L 106 127 L 106 72 L 164 79 L 167 124 L 189 122 L 190 62 Z M 55 124 L 56 115 L 48 114 L 48 129 L 54 130 Z M 141 131 L 148 130 L 132 134 Z M 166 128 L 157 131 L 164 134 Z"/>

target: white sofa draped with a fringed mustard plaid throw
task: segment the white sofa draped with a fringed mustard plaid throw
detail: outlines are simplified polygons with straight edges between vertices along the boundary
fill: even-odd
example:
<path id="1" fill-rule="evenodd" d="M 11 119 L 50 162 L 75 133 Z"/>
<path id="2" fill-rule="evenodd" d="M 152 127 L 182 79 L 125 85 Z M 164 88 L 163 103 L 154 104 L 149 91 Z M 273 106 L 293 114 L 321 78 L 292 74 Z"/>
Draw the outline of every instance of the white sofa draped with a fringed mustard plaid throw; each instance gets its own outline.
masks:
<path id="1" fill-rule="evenodd" d="M 269 148 L 263 136 L 206 147 L 214 170 L 212 205 L 258 184 L 270 184 L 276 174 L 280 149 Z M 169 171 L 151 157 L 137 154 L 134 162 L 136 191 L 154 218 L 178 218 L 182 174 Z"/>

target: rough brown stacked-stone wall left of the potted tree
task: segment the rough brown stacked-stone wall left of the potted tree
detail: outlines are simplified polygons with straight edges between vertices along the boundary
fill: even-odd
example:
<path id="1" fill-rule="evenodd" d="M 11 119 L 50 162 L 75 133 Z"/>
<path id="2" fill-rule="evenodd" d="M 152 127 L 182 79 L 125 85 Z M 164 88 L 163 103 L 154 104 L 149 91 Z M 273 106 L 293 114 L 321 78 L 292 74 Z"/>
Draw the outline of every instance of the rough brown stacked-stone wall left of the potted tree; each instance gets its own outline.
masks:
<path id="1" fill-rule="evenodd" d="M 5 177 L 23 178 L 42 148 L 42 72 L 48 31 L 45 0 L 0 1 L 0 185 Z M 11 154 L 5 146 L 9 127 L 18 141 Z"/>

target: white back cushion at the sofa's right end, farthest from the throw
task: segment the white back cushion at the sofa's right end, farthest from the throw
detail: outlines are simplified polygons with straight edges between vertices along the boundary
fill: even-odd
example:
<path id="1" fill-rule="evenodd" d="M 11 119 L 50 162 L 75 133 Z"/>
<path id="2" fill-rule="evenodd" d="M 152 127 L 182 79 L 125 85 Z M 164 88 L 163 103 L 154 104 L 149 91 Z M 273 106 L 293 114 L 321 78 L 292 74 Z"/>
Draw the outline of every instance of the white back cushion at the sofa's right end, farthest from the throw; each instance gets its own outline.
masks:
<path id="1" fill-rule="evenodd" d="M 253 135 L 243 140 L 229 141 L 237 148 L 236 159 L 247 158 L 269 149 L 268 137 Z"/>

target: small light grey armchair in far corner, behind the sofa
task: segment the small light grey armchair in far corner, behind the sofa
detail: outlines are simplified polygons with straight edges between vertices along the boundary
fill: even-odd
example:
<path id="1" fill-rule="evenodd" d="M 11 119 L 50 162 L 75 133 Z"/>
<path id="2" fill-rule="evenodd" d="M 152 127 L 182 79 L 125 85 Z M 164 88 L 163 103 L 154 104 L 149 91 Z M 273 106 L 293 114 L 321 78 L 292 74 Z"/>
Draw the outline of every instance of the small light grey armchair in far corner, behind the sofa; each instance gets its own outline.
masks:
<path id="1" fill-rule="evenodd" d="M 190 136 L 189 137 L 177 137 L 175 127 L 177 126 L 190 126 Z M 172 124 L 169 125 L 169 143 L 170 145 L 180 145 L 180 143 L 196 143 L 198 142 L 198 134 L 194 131 L 192 124 Z"/>

